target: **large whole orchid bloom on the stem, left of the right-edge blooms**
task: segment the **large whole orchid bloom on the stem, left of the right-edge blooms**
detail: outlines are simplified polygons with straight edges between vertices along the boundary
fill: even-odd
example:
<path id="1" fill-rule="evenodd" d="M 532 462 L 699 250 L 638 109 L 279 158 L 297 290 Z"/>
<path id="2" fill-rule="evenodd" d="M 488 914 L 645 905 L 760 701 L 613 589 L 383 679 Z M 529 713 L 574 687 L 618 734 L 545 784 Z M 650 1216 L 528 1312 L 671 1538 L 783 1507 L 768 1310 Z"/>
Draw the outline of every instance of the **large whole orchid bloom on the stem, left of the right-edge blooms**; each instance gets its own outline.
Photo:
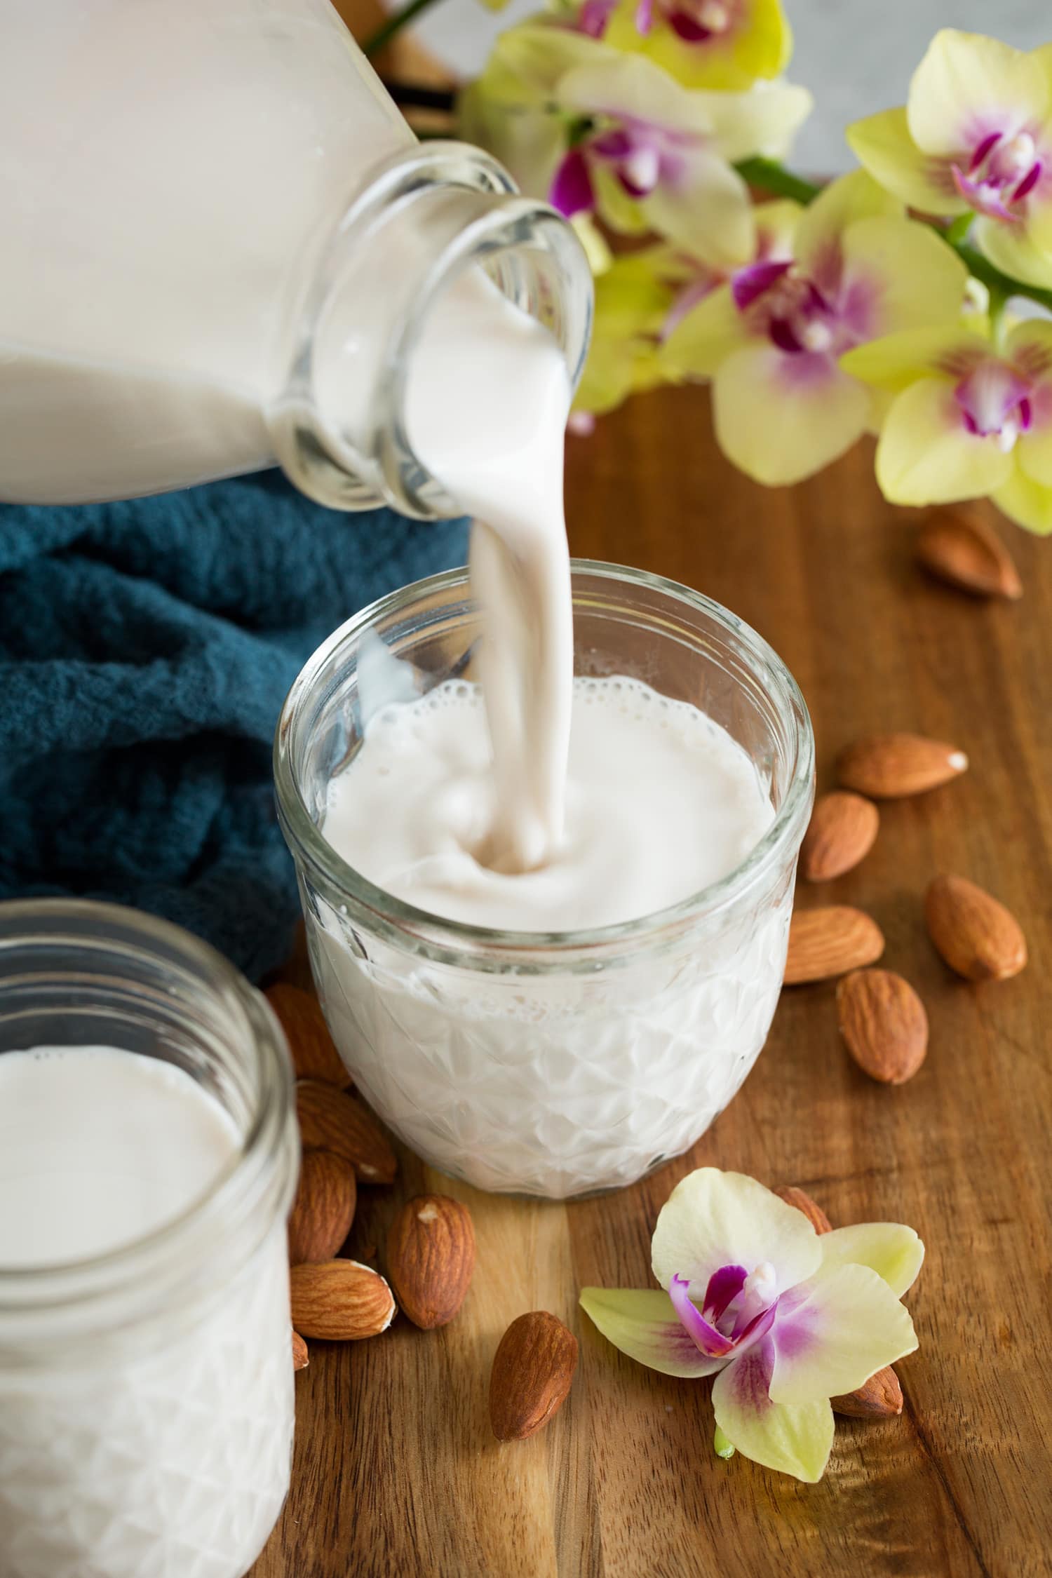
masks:
<path id="1" fill-rule="evenodd" d="M 956 323 L 967 270 L 927 226 L 864 170 L 808 208 L 773 210 L 767 249 L 672 328 L 661 357 L 673 377 L 713 380 L 716 437 L 759 483 L 795 483 L 871 426 L 879 401 L 839 358 L 867 339 Z M 774 234 L 778 232 L 778 234 Z"/>

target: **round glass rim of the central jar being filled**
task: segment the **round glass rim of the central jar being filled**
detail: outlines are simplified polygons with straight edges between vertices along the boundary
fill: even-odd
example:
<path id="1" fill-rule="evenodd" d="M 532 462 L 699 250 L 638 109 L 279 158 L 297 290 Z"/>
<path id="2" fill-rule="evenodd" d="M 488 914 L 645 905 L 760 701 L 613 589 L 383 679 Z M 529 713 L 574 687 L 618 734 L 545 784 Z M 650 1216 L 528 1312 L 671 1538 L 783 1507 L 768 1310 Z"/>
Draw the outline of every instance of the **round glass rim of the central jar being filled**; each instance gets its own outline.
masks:
<path id="1" fill-rule="evenodd" d="M 744 647 L 749 667 L 762 680 L 767 694 L 774 701 L 781 721 L 790 729 L 793 762 L 782 803 L 763 838 L 754 844 L 744 860 L 718 882 L 711 882 L 664 909 L 612 926 L 579 931 L 502 931 L 472 926 L 435 915 L 431 911 L 416 909 L 375 887 L 333 849 L 314 822 L 300 792 L 293 751 L 298 743 L 298 723 L 303 720 L 315 694 L 319 677 L 331 658 L 380 619 L 405 612 L 413 603 L 432 598 L 435 593 L 465 589 L 468 571 L 461 567 L 410 582 L 352 615 L 308 658 L 285 696 L 278 720 L 274 786 L 282 832 L 297 863 L 303 863 L 314 876 L 323 879 L 323 885 L 330 888 L 328 896 L 333 892 L 338 895 L 336 903 L 349 918 L 364 923 L 369 931 L 383 931 L 390 940 L 397 939 L 402 947 L 423 956 L 462 964 L 475 956 L 473 963 L 478 963 L 479 967 L 484 967 L 483 959 L 489 959 L 491 967 L 494 964 L 498 969 L 519 966 L 528 969 L 530 974 L 563 974 L 574 964 L 593 969 L 598 955 L 604 964 L 618 956 L 628 958 L 637 952 L 640 942 L 651 944 L 661 934 L 678 933 L 688 925 L 710 920 L 721 911 L 730 909 L 778 865 L 793 841 L 798 844 L 803 838 L 814 783 L 814 734 L 800 686 L 774 649 L 737 614 L 677 581 L 651 574 L 647 570 L 632 570 L 628 565 L 590 559 L 573 559 L 571 571 L 574 581 L 590 576 L 659 592 L 686 604 L 694 612 L 705 614 Z"/>

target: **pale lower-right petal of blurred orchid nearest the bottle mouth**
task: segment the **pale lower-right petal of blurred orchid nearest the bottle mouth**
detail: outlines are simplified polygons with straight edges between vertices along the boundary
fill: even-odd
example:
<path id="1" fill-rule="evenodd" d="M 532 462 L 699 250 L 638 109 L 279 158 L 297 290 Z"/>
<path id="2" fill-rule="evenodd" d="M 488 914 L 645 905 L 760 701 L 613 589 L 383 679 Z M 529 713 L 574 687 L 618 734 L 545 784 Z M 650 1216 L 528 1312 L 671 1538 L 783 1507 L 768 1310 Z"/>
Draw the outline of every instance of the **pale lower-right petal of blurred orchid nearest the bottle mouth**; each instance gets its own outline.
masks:
<path id="1" fill-rule="evenodd" d="M 662 180 L 639 208 L 647 222 L 713 268 L 730 270 L 755 251 L 749 193 L 737 170 L 707 148 L 683 156 L 677 180 Z"/>

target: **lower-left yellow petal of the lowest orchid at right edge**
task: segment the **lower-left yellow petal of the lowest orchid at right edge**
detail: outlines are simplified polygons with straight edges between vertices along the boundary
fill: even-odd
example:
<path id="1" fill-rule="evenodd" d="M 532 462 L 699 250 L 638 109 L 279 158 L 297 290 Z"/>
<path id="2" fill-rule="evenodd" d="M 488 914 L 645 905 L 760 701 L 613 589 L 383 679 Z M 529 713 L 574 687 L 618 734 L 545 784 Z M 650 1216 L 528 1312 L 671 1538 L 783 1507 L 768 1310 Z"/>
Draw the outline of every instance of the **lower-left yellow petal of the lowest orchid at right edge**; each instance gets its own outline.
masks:
<path id="1" fill-rule="evenodd" d="M 1013 470 L 1013 456 L 998 447 L 997 436 L 968 432 L 945 379 L 918 379 L 902 390 L 877 443 L 877 483 L 893 503 L 981 499 L 1003 488 Z"/>

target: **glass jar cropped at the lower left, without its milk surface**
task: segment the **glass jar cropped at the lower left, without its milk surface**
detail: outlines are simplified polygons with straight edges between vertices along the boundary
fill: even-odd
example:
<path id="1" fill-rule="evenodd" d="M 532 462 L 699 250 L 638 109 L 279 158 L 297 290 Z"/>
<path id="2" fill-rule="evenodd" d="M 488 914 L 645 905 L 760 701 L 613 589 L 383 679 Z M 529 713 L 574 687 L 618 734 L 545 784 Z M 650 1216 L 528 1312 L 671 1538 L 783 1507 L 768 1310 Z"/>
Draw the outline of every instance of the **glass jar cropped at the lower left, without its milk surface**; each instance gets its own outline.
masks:
<path id="1" fill-rule="evenodd" d="M 175 926 L 109 904 L 2 904 L 0 1057 L 38 1045 L 177 1064 L 241 1147 L 144 1239 L 0 1266 L 0 1572 L 241 1578 L 281 1512 L 292 1452 L 298 1138 L 282 1034 L 265 999 Z"/>

